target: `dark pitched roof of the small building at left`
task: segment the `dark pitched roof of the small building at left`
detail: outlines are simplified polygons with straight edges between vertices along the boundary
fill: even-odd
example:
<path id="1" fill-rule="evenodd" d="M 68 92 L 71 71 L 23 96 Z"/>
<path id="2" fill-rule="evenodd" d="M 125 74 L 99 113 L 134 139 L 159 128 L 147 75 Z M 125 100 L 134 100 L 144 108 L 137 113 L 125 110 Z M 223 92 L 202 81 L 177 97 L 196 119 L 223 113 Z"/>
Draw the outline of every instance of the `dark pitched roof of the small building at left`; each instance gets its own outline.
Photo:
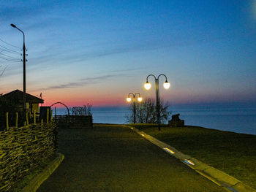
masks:
<path id="1" fill-rule="evenodd" d="M 6 93 L 3 96 L 0 96 L 0 98 L 12 100 L 14 102 L 23 102 L 23 91 L 20 91 L 16 89 L 15 91 L 11 91 L 10 93 Z M 42 104 L 44 102 L 43 99 L 38 98 L 37 96 L 32 96 L 29 93 L 26 93 L 26 102 L 32 103 L 32 104 Z"/>

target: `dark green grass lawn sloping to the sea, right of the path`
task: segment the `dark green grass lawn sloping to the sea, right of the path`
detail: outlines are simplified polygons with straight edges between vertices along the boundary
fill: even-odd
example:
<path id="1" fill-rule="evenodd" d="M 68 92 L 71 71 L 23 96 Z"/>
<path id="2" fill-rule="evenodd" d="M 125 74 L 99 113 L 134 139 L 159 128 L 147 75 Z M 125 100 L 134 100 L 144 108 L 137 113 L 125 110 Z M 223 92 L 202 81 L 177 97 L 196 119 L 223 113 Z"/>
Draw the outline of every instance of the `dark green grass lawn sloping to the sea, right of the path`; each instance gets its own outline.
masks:
<path id="1" fill-rule="evenodd" d="M 184 154 L 226 172 L 256 188 L 256 136 L 196 126 L 170 128 L 136 124 L 141 131 Z"/>

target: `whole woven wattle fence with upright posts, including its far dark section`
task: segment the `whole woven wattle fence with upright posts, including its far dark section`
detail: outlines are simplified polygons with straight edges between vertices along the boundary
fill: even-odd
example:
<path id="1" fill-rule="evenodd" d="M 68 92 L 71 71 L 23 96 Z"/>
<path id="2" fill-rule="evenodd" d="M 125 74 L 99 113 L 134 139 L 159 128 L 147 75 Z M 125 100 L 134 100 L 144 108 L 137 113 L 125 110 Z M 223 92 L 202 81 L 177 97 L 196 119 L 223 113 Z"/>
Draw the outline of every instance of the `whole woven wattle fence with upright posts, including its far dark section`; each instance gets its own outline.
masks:
<path id="1" fill-rule="evenodd" d="M 17 115 L 17 114 L 16 114 Z M 13 191 L 31 169 L 45 164 L 58 150 L 59 128 L 92 128 L 92 115 L 58 115 L 38 123 L 36 115 L 26 115 L 24 126 L 6 114 L 4 130 L 0 131 L 0 191 Z M 48 117 L 48 115 L 47 115 Z M 15 122 L 13 122 L 15 119 Z M 1 123 L 1 122 L 0 122 Z M 12 126 L 10 126 L 12 125 Z"/>

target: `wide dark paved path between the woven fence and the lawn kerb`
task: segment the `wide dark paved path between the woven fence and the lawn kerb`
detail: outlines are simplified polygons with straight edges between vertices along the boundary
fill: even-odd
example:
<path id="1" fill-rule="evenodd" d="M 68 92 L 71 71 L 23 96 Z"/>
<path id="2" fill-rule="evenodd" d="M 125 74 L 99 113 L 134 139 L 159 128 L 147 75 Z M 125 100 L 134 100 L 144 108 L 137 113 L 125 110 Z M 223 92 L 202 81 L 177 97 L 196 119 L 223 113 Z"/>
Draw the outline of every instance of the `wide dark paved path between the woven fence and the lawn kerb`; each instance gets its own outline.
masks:
<path id="1" fill-rule="evenodd" d="M 224 191 L 121 126 L 59 130 L 64 161 L 38 192 Z"/>

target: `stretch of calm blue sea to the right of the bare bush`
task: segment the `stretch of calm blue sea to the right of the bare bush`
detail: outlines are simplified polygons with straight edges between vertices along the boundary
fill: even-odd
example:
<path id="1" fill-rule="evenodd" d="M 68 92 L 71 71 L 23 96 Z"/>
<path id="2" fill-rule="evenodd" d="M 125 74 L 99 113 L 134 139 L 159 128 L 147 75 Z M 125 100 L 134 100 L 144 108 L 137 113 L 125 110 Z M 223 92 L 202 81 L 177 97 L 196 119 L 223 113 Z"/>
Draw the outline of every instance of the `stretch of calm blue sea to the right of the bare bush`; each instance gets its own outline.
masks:
<path id="1" fill-rule="evenodd" d="M 186 125 L 256 134 L 256 108 L 173 109 Z"/>

